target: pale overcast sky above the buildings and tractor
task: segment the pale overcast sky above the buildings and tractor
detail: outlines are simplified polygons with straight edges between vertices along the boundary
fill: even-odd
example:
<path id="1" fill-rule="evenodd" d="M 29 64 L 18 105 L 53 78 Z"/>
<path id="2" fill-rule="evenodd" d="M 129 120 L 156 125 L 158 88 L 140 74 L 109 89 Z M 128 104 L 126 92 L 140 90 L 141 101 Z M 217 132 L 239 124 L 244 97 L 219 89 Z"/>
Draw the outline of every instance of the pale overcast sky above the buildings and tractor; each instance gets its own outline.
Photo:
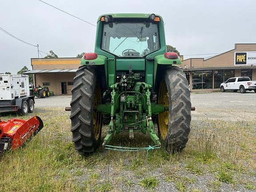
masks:
<path id="1" fill-rule="evenodd" d="M 44 0 L 96 24 L 104 13 L 139 12 L 163 16 L 166 43 L 185 58 L 220 53 L 235 43 L 256 43 L 255 0 Z M 0 0 L 0 27 L 43 52 L 76 57 L 93 52 L 96 27 L 39 0 Z M 42 53 L 42 56 L 45 54 Z M 0 72 L 31 68 L 37 48 L 0 31 Z M 41 57 L 41 56 L 40 56 Z"/>

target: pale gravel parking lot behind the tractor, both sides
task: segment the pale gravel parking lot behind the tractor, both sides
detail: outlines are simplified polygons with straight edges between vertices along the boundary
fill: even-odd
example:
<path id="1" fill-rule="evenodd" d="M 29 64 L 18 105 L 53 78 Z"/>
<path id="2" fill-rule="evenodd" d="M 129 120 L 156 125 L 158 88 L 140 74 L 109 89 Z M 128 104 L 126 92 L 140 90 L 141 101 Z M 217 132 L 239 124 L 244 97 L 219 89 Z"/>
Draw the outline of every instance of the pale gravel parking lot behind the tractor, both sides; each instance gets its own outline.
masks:
<path id="1" fill-rule="evenodd" d="M 256 113 L 256 93 L 247 92 L 193 92 L 191 93 L 192 112 L 194 120 L 210 118 L 220 120 L 246 120 Z M 36 98 L 36 107 L 68 107 L 71 95 L 50 96 L 44 99 Z M 64 110 L 64 109 L 63 109 Z"/>

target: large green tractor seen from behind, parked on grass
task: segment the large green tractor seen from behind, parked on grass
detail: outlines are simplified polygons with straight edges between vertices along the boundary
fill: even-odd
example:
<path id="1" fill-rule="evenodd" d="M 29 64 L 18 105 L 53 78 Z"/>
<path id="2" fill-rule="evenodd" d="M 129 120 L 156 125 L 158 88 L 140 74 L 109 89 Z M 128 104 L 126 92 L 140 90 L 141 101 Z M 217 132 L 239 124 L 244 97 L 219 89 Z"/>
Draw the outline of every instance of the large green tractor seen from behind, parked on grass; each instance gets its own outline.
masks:
<path id="1" fill-rule="evenodd" d="M 85 53 L 73 80 L 71 131 L 80 154 L 100 146 L 103 115 L 112 136 L 148 133 L 152 142 L 181 151 L 190 132 L 191 102 L 180 57 L 166 52 L 164 21 L 155 14 L 99 17 L 94 53 Z M 159 134 L 155 132 L 154 121 Z M 161 139 L 161 140 L 160 140 Z"/>

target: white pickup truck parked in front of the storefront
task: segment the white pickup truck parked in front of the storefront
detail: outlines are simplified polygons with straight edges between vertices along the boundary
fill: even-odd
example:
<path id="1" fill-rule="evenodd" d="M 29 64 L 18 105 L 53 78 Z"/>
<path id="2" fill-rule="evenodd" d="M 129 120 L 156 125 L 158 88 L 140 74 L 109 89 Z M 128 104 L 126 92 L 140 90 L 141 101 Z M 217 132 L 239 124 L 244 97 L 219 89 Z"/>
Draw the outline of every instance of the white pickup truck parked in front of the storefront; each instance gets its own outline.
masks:
<path id="1" fill-rule="evenodd" d="M 220 84 L 220 91 L 225 92 L 226 90 L 233 90 L 240 93 L 245 93 L 246 90 L 256 92 L 256 81 L 251 81 L 250 77 L 233 77 Z"/>

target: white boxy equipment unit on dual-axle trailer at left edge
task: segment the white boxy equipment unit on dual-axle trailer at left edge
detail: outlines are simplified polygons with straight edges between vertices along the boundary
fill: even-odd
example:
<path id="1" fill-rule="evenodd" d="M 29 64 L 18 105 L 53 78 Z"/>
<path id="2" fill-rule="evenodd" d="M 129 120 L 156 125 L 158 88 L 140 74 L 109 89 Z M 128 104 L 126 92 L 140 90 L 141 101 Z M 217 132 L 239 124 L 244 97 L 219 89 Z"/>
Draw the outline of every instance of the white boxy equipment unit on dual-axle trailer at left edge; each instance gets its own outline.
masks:
<path id="1" fill-rule="evenodd" d="M 29 94 L 27 75 L 0 75 L 0 113 L 26 114 L 34 109 L 34 96 Z"/>

